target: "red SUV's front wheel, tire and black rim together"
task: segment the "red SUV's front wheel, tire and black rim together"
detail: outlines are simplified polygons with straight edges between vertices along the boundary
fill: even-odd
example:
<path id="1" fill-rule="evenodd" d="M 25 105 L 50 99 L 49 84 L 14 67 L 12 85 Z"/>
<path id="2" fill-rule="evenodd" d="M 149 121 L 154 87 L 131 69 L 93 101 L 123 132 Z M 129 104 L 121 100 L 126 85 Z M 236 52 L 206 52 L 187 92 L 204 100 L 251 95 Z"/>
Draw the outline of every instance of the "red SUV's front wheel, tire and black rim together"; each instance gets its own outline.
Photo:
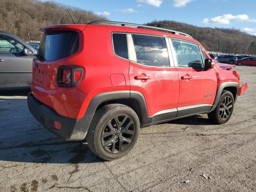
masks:
<path id="1" fill-rule="evenodd" d="M 234 96 L 230 91 L 223 90 L 216 108 L 208 113 L 208 118 L 215 124 L 226 123 L 234 109 Z"/>

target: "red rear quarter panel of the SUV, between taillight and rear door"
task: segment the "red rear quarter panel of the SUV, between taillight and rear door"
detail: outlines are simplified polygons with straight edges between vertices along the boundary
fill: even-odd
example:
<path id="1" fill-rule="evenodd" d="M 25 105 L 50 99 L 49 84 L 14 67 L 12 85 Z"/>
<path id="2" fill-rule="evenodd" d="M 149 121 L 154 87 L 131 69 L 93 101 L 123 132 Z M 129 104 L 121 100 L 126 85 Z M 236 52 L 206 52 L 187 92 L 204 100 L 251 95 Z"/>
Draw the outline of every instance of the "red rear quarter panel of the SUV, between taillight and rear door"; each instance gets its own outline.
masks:
<path id="1" fill-rule="evenodd" d="M 76 87 L 90 98 L 103 92 L 130 90 L 128 76 L 130 61 L 114 54 L 110 28 L 108 26 L 88 25 L 83 34 L 84 50 L 82 57 L 72 57 L 72 59 L 65 61 L 65 65 L 79 63 L 84 67 L 83 78 Z M 112 74 L 124 76 L 125 82 L 119 82 L 122 86 L 112 86 Z"/>

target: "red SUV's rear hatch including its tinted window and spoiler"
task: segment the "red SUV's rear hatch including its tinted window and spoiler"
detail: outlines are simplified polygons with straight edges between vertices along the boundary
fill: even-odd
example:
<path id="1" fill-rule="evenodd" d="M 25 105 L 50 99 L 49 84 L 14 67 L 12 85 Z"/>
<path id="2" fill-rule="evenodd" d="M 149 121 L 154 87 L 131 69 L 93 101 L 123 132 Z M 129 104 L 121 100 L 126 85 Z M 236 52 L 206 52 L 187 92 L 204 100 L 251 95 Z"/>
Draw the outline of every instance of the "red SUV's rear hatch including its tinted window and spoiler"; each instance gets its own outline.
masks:
<path id="1" fill-rule="evenodd" d="M 80 33 L 86 25 L 47 26 L 36 58 L 33 60 L 32 94 L 44 104 L 54 108 L 54 95 L 63 92 L 57 84 L 57 71 L 65 60 L 81 52 Z"/>

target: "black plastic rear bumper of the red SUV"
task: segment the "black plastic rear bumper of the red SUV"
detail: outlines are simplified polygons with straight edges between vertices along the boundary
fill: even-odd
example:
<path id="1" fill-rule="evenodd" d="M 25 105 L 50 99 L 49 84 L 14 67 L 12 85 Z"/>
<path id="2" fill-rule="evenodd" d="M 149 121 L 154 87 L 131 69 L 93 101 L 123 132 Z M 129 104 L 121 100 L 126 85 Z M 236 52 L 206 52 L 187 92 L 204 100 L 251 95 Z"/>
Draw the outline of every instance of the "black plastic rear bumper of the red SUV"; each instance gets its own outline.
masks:
<path id="1" fill-rule="evenodd" d="M 32 93 L 28 94 L 28 108 L 40 124 L 64 140 L 83 140 L 88 130 L 86 118 L 73 119 L 56 113 L 52 108 L 37 100 Z M 54 121 L 61 123 L 61 129 L 54 128 Z"/>

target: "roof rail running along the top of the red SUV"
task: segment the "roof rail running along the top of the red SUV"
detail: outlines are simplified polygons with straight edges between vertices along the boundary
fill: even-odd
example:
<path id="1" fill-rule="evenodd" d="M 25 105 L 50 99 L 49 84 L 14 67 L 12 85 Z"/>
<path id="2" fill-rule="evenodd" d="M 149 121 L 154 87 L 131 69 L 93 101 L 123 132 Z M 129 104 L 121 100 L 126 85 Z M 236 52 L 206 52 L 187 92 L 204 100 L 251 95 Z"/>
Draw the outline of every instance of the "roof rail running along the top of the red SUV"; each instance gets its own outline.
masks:
<path id="1" fill-rule="evenodd" d="M 192 36 L 190 36 L 190 35 L 188 35 L 186 33 L 178 32 L 178 31 L 174 31 L 174 30 L 170 30 L 170 29 L 164 29 L 164 28 L 160 28 L 160 27 L 141 25 L 141 24 L 134 24 L 134 23 L 99 20 L 99 21 L 92 21 L 92 22 L 90 22 L 88 24 L 89 25 L 94 25 L 94 24 L 103 24 L 103 25 L 113 24 L 113 25 L 116 25 L 116 24 L 118 24 L 118 25 L 121 25 L 121 26 L 137 26 L 137 27 L 154 29 L 154 30 L 158 30 L 158 31 L 164 31 L 164 32 L 172 33 L 172 34 L 184 35 L 184 36 L 192 38 Z"/>

